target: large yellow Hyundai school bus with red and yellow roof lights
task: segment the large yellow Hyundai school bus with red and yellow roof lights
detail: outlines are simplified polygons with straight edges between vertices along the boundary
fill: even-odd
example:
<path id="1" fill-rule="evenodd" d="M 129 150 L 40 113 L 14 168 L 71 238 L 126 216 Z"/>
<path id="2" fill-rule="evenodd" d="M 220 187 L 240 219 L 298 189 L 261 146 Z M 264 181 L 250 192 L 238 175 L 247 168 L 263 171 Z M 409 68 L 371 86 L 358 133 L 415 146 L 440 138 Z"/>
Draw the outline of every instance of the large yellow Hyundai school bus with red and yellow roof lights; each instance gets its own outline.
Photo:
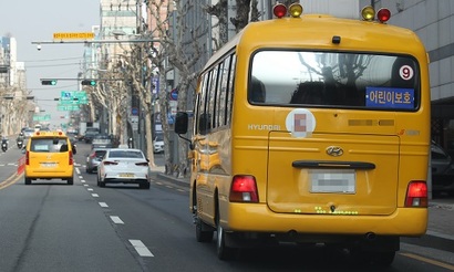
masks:
<path id="1" fill-rule="evenodd" d="M 200 73 L 190 137 L 196 238 L 219 259 L 282 242 L 389 265 L 427 224 L 429 57 L 372 7 L 362 20 L 277 4 Z M 290 14 L 290 15 L 287 15 Z M 175 132 L 185 134 L 188 114 Z M 183 137 L 183 136 L 182 136 Z"/>

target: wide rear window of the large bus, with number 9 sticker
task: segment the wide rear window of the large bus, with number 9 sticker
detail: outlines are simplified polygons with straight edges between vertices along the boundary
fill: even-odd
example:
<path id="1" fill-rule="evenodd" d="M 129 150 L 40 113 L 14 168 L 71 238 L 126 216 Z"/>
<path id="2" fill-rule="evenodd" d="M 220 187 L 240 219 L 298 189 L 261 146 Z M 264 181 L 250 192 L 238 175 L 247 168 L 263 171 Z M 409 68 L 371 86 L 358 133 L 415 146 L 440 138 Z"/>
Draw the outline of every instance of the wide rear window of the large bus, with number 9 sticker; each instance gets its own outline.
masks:
<path id="1" fill-rule="evenodd" d="M 248 101 L 258 105 L 414 111 L 417 63 L 409 56 L 350 52 L 259 51 Z"/>

